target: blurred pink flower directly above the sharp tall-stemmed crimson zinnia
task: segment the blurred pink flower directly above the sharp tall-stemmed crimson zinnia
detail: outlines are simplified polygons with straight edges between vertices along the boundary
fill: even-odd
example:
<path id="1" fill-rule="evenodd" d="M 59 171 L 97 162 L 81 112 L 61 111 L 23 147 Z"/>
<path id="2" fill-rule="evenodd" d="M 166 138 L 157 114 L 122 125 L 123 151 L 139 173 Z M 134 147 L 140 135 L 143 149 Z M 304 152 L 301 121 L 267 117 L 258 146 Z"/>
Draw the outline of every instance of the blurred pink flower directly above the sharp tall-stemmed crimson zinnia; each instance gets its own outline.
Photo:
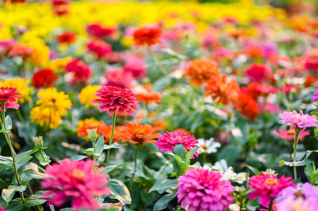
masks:
<path id="1" fill-rule="evenodd" d="M 131 72 L 126 72 L 122 68 L 110 69 L 105 74 L 105 86 L 120 87 L 132 89 L 136 85 L 136 81 Z"/>

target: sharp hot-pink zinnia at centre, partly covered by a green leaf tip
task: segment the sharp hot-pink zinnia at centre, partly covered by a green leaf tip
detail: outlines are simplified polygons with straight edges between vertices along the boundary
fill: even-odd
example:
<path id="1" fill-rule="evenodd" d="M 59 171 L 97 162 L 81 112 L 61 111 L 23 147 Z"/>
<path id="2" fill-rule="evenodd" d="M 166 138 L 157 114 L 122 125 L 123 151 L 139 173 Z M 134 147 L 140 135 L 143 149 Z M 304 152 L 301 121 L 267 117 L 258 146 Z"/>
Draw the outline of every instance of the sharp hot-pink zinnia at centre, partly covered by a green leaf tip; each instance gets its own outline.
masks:
<path id="1" fill-rule="evenodd" d="M 182 144 L 187 151 L 190 151 L 199 146 L 199 142 L 194 137 L 194 135 L 186 135 L 185 133 L 179 131 L 167 131 L 159 137 L 158 141 L 156 141 L 155 144 L 162 152 L 172 151 L 177 144 Z M 196 152 L 195 156 L 198 157 L 199 153 Z"/>

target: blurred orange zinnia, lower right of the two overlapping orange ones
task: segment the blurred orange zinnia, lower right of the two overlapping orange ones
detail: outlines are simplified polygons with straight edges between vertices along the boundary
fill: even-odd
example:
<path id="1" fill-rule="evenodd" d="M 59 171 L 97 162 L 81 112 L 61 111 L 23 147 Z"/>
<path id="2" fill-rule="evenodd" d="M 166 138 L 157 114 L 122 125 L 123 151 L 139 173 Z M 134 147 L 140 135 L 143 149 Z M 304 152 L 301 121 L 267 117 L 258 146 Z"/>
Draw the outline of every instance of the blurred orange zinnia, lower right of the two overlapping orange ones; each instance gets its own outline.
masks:
<path id="1" fill-rule="evenodd" d="M 236 100 L 238 90 L 238 83 L 234 78 L 229 80 L 227 75 L 223 75 L 221 78 L 211 77 L 204 88 L 206 96 L 210 95 L 213 100 L 217 100 L 216 103 L 225 105 L 229 104 L 229 100 Z"/>

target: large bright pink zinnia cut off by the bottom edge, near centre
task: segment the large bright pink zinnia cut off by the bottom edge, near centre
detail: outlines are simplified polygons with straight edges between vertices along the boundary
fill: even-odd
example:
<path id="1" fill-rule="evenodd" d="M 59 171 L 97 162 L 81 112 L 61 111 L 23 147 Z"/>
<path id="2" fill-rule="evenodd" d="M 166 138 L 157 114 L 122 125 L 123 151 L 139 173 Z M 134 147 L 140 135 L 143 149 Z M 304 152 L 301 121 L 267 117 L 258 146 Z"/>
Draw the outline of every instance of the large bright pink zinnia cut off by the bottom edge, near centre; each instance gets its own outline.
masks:
<path id="1" fill-rule="evenodd" d="M 192 168 L 179 178 L 178 202 L 188 211 L 225 211 L 234 187 L 219 172 Z"/>

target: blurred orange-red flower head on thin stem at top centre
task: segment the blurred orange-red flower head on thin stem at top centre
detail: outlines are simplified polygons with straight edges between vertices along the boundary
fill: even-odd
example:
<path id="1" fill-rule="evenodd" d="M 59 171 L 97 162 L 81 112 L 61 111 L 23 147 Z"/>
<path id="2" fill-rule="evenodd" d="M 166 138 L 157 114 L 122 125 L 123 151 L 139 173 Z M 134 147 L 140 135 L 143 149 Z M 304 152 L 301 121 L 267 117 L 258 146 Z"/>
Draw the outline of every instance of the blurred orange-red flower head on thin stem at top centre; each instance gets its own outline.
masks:
<path id="1" fill-rule="evenodd" d="M 160 44 L 159 39 L 162 34 L 162 30 L 156 27 L 142 27 L 136 29 L 134 32 L 134 43 L 136 46 L 152 46 Z"/>

